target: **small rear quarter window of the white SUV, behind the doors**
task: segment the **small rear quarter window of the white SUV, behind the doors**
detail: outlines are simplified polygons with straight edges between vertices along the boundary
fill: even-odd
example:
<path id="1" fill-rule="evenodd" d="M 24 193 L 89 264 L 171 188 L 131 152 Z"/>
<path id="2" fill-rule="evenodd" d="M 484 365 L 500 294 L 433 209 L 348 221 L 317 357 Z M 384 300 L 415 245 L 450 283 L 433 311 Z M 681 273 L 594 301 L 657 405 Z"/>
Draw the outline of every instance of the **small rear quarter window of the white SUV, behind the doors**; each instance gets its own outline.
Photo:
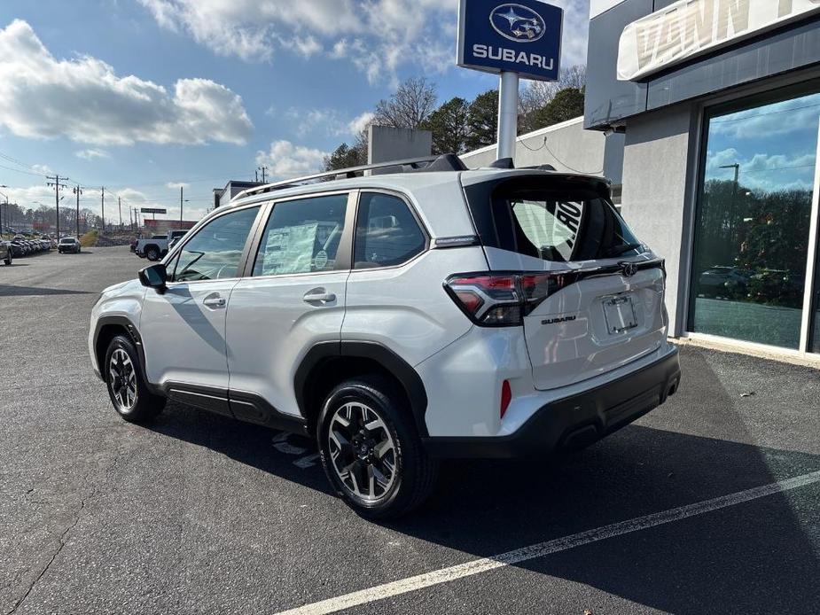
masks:
<path id="1" fill-rule="evenodd" d="M 426 247 L 410 207 L 398 197 L 363 192 L 356 221 L 354 269 L 401 265 Z"/>

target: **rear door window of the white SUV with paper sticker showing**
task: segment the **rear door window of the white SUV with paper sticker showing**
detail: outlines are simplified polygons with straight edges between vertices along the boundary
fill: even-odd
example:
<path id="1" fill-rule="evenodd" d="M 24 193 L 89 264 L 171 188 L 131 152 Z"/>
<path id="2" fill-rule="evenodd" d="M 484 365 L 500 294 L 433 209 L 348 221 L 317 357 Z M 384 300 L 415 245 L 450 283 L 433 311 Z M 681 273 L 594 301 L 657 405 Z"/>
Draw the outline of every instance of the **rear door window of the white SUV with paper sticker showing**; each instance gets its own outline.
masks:
<path id="1" fill-rule="evenodd" d="M 348 194 L 283 201 L 273 206 L 254 276 L 282 276 L 336 268 Z"/>

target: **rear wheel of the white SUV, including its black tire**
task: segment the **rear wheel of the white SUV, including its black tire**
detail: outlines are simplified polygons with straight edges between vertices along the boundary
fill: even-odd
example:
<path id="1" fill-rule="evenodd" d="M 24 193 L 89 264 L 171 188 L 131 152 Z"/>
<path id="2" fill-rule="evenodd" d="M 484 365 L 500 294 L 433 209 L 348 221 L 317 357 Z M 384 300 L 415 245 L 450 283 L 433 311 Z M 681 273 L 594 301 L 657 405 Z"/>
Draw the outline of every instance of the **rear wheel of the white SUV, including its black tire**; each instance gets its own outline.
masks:
<path id="1" fill-rule="evenodd" d="M 433 491 L 438 463 L 426 455 L 407 401 L 387 378 L 336 386 L 316 437 L 327 478 L 363 518 L 401 517 Z"/>

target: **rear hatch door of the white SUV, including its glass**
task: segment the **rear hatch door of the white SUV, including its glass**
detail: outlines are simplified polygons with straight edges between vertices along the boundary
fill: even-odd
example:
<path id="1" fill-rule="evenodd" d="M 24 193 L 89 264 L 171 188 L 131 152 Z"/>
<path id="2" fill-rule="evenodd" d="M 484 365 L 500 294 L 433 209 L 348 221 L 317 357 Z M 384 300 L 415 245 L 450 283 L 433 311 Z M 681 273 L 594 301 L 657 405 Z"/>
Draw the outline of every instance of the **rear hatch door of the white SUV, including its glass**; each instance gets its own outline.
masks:
<path id="1" fill-rule="evenodd" d="M 550 274 L 523 319 L 537 389 L 593 378 L 660 347 L 663 262 L 629 230 L 605 183 L 525 174 L 465 192 L 489 269 Z"/>

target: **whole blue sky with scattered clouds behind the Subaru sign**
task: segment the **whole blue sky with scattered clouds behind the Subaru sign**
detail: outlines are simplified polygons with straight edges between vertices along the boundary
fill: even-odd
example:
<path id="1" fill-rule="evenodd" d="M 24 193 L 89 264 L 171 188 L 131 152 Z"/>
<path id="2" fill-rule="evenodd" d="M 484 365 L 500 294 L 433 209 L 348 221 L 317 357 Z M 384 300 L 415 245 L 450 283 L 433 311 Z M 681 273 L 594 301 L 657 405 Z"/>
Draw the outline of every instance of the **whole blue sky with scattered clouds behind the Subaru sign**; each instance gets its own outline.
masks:
<path id="1" fill-rule="evenodd" d="M 353 139 L 395 84 L 425 75 L 440 101 L 496 87 L 455 64 L 456 0 L 4 0 L 0 184 L 51 205 L 43 175 L 130 206 L 306 173 Z M 564 65 L 584 63 L 589 0 L 566 10 Z M 110 202 L 106 200 L 106 202 Z M 107 209 L 107 208 L 106 208 Z M 189 216 L 186 216 L 189 217 Z"/>

